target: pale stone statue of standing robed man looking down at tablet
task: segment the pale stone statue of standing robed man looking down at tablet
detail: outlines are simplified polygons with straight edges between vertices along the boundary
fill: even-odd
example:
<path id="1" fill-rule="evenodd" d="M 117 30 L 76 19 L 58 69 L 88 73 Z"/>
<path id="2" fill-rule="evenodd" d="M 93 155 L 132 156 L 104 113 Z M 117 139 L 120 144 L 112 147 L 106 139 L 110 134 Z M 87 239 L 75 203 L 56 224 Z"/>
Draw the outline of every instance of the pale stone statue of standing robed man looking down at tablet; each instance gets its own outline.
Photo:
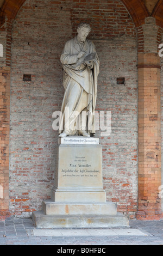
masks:
<path id="1" fill-rule="evenodd" d="M 95 135 L 95 106 L 99 59 L 95 45 L 87 40 L 90 25 L 82 22 L 77 36 L 66 42 L 61 54 L 64 69 L 64 99 L 59 122 L 59 137 Z"/>

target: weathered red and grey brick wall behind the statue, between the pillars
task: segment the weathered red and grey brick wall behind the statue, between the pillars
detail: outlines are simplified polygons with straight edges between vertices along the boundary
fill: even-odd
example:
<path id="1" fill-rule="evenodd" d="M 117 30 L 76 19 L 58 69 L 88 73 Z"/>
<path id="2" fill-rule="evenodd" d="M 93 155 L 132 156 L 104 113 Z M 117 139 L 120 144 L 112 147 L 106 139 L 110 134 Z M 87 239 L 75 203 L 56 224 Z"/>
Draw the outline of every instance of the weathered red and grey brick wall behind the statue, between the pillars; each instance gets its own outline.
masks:
<path id="1" fill-rule="evenodd" d="M 136 31 L 121 1 L 27 0 L 12 26 L 9 209 L 29 216 L 51 196 L 58 133 L 52 113 L 64 89 L 60 54 L 90 23 L 101 62 L 97 111 L 111 111 L 111 135 L 101 137 L 107 199 L 135 216 L 137 209 Z M 23 81 L 23 75 L 31 81 Z M 125 84 L 117 84 L 125 77 Z M 100 132 L 97 132 L 100 136 Z"/>

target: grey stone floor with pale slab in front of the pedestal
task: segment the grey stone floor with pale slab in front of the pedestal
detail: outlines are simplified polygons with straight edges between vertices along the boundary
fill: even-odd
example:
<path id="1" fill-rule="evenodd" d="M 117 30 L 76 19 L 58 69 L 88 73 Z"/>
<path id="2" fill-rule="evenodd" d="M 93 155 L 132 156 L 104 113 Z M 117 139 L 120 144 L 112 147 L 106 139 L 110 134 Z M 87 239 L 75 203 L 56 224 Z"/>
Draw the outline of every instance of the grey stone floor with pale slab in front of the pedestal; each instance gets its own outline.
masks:
<path id="1" fill-rule="evenodd" d="M 0 245 L 163 245 L 163 220 L 131 220 L 129 228 L 40 229 L 30 218 L 10 217 L 0 221 Z"/>

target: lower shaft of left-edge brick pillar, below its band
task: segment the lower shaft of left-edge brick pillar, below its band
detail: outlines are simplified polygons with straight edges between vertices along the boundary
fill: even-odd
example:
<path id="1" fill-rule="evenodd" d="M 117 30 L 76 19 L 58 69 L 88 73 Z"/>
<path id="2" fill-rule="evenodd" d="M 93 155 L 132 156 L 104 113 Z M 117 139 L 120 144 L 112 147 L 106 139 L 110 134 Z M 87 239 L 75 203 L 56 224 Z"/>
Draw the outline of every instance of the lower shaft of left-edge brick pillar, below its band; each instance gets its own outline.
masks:
<path id="1" fill-rule="evenodd" d="M 0 68 L 0 212 L 9 209 L 10 67 Z"/>

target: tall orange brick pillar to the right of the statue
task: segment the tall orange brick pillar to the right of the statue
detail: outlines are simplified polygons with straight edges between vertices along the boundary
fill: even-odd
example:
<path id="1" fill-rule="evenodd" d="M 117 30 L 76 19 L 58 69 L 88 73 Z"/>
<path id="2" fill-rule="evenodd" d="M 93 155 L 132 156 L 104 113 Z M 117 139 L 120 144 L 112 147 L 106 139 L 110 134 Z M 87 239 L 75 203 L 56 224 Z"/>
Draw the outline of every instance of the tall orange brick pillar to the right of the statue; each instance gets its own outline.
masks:
<path id="1" fill-rule="evenodd" d="M 161 185 L 161 82 L 158 43 L 160 31 L 153 18 L 138 29 L 139 220 L 162 217 Z M 159 35 L 159 36 L 158 36 Z"/>

